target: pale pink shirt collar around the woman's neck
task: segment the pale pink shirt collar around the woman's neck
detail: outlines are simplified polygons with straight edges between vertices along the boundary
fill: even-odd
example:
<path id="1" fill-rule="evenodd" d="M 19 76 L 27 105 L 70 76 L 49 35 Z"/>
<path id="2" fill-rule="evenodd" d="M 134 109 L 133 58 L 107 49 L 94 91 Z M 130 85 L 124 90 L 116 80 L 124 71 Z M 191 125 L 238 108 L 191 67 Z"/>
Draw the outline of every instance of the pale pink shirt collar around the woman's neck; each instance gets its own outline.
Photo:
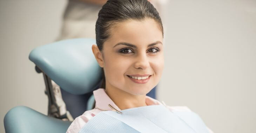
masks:
<path id="1" fill-rule="evenodd" d="M 105 89 L 99 88 L 97 90 L 93 91 L 93 95 L 95 98 L 95 107 L 100 108 L 102 110 L 112 110 L 108 104 L 113 106 L 115 109 L 120 110 L 119 107 L 116 106 L 116 104 L 110 99 L 110 97 L 105 92 Z M 147 105 L 159 105 L 160 103 L 158 100 L 151 98 L 149 96 L 146 96 L 146 104 Z"/>

